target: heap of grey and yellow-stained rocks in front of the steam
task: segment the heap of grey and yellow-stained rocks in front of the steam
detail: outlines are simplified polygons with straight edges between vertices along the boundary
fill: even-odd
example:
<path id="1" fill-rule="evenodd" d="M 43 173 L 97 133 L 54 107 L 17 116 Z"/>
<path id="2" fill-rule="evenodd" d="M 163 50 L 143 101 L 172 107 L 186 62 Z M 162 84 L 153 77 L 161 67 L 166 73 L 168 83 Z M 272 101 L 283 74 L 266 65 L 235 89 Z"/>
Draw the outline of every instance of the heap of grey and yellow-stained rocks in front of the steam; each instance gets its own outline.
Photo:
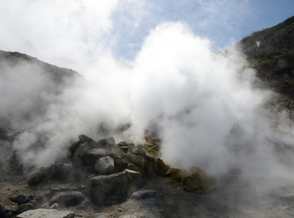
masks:
<path id="1" fill-rule="evenodd" d="M 207 194 L 215 189 L 211 178 L 200 168 L 189 172 L 171 168 L 159 158 L 161 141 L 146 136 L 144 145 L 122 141 L 115 143 L 113 137 L 95 141 L 80 135 L 79 141 L 70 148 L 71 157 L 65 163 L 41 167 L 31 173 L 27 184 L 43 187 L 32 196 L 12 196 L 19 204 L 18 211 L 1 213 L 19 214 L 34 208 L 59 209 L 75 207 L 82 209 L 91 204 L 109 205 L 133 199 L 156 196 L 154 190 L 138 191 L 146 179 L 161 175 L 182 182 L 183 189 L 197 194 Z M 138 192 L 136 192 L 138 191 Z M 42 209 L 42 210 L 41 210 Z M 57 213 L 53 210 L 50 213 Z M 73 216 L 72 212 L 68 213 Z M 26 217 L 21 214 L 19 217 Z"/>

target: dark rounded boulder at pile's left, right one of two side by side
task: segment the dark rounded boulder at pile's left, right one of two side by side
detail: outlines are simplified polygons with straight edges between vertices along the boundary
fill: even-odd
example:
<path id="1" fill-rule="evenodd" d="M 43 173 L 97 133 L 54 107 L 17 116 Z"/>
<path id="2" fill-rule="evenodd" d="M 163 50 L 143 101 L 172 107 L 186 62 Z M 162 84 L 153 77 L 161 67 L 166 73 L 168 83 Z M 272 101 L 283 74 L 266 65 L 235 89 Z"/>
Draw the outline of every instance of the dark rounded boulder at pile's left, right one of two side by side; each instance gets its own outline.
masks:
<path id="1" fill-rule="evenodd" d="M 48 170 L 48 178 L 54 181 L 71 181 L 73 179 L 71 164 L 52 164 Z"/>

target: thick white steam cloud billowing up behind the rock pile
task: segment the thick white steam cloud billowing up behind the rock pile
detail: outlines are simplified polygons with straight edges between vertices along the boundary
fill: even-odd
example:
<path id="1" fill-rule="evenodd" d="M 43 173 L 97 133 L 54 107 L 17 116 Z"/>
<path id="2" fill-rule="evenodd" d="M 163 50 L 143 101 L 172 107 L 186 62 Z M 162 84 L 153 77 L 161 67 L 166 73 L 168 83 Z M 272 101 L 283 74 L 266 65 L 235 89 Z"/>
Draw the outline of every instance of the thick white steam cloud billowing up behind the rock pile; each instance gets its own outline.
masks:
<path id="1" fill-rule="evenodd" d="M 256 87 L 254 70 L 236 48 L 213 53 L 208 39 L 168 22 L 150 32 L 130 65 L 105 54 L 80 72 L 84 78 L 57 93 L 38 67 L 23 63 L 2 71 L 1 116 L 30 114 L 13 143 L 24 166 L 65 157 L 69 136 L 142 143 L 146 128 L 162 138 L 162 158 L 173 167 L 198 165 L 213 174 L 238 167 L 260 175 L 293 166 L 291 153 L 274 152 L 277 144 L 289 145 L 291 130 L 285 138 L 273 129 L 261 108 L 271 93 Z M 128 122 L 131 128 L 116 133 Z M 108 133 L 100 131 L 101 123 Z"/>

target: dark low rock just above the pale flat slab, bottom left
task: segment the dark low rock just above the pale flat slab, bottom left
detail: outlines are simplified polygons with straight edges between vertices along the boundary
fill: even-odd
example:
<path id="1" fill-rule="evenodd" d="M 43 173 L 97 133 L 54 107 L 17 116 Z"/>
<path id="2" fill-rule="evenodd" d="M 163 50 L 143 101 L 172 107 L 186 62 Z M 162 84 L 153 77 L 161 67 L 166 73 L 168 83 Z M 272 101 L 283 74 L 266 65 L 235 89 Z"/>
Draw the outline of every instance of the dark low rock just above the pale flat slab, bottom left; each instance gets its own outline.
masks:
<path id="1" fill-rule="evenodd" d="M 74 207 L 83 201 L 81 192 L 68 192 L 57 194 L 51 199 L 51 204 L 57 203 L 60 207 Z"/>

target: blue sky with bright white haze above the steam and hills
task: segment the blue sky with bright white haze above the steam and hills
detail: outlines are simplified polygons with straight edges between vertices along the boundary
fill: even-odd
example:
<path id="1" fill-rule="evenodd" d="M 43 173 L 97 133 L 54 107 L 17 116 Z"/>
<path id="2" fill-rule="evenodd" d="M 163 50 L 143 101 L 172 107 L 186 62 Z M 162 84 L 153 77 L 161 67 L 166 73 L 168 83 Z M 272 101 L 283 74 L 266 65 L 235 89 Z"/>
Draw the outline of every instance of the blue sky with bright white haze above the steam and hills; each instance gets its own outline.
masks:
<path id="1" fill-rule="evenodd" d="M 293 0 L 0 0 L 0 49 L 91 60 L 132 61 L 152 29 L 182 22 L 211 49 L 294 15 Z"/>

